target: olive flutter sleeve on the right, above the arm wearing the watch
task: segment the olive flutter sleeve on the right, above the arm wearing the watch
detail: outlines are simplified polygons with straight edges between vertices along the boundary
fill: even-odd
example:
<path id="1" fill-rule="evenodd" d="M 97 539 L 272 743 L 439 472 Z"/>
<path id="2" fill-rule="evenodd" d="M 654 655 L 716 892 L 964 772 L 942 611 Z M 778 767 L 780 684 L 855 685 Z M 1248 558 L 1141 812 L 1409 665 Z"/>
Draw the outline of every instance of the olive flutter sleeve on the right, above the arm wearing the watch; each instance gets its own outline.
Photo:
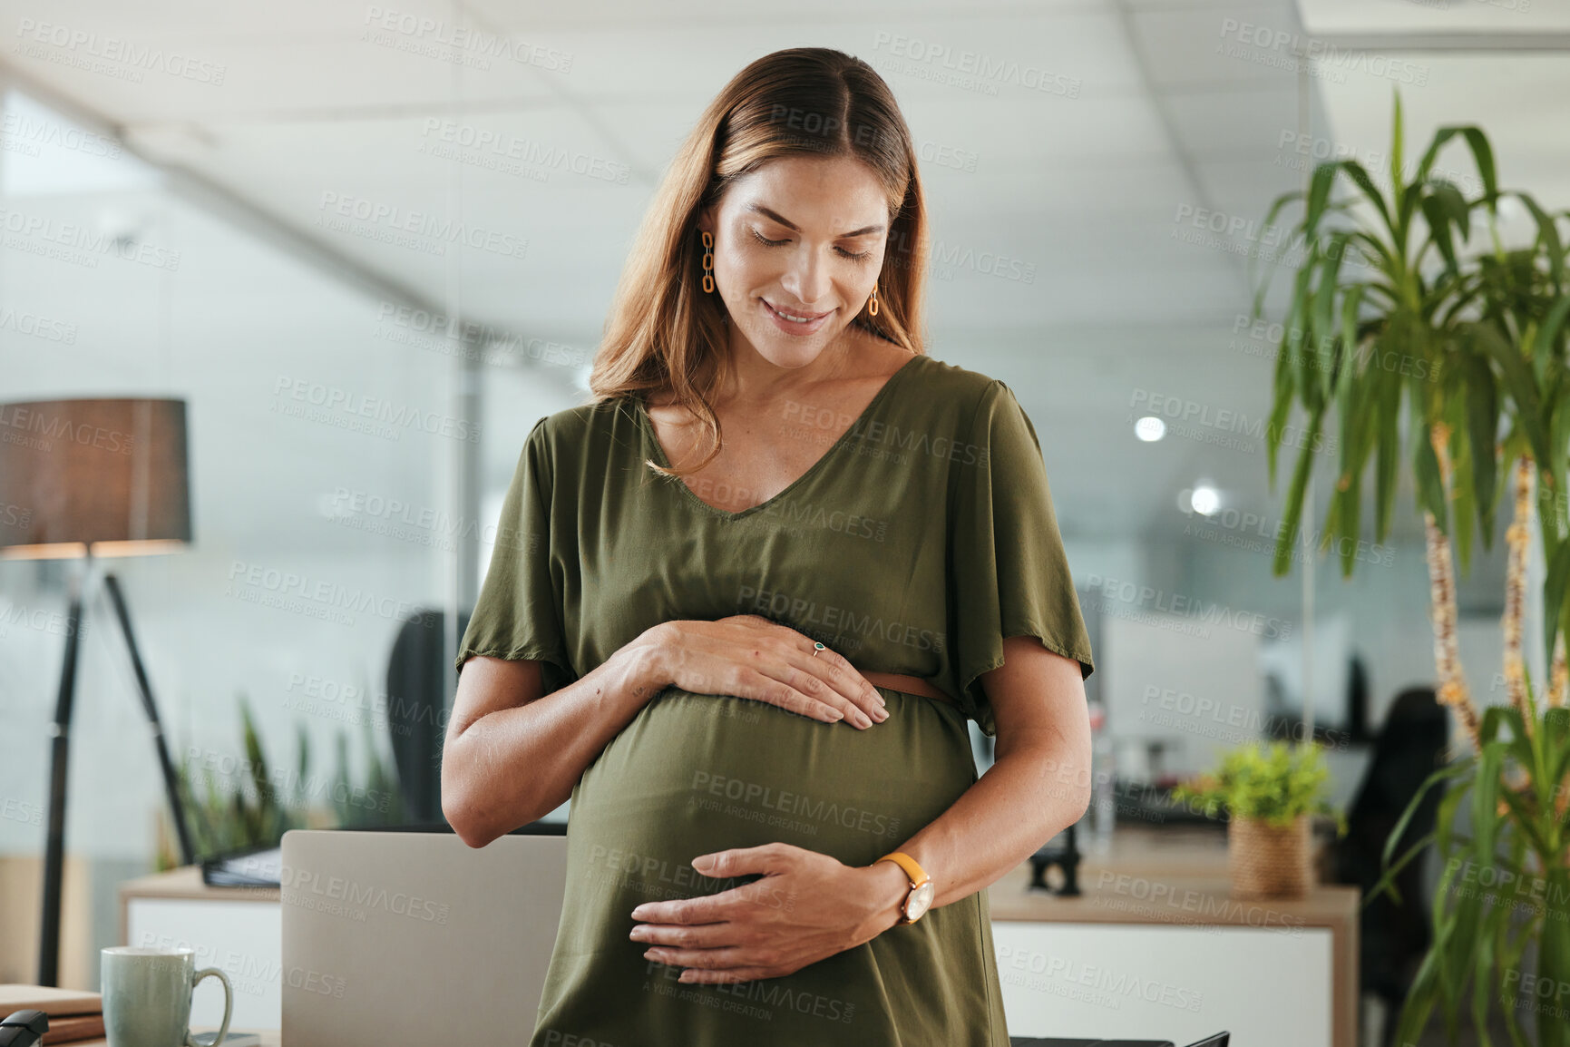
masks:
<path id="1" fill-rule="evenodd" d="M 950 568 L 955 672 L 984 735 L 997 733 L 978 677 L 1003 664 L 1003 639 L 1035 636 L 1094 670 L 1090 636 L 1058 534 L 1041 441 L 1014 391 L 992 380 L 972 424 L 975 454 L 956 472 Z"/>

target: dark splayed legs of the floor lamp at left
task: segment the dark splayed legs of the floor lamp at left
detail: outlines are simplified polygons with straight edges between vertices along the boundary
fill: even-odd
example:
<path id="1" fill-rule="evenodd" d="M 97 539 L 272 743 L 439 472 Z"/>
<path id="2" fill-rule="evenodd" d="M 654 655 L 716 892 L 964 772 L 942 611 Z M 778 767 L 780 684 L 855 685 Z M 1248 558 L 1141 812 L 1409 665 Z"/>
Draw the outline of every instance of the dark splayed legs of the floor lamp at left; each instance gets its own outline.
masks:
<path id="1" fill-rule="evenodd" d="M 38 984 L 41 986 L 55 986 L 60 980 L 60 898 L 66 859 L 66 766 L 71 757 L 71 711 L 77 691 L 77 644 L 82 636 L 82 623 L 86 620 L 82 592 L 91 573 L 93 551 L 89 546 L 85 568 L 71 584 L 71 611 L 66 622 L 66 658 L 60 670 L 60 697 L 55 702 L 53 742 L 49 755 L 49 840 L 44 848 L 44 912 L 38 947 Z M 181 802 L 181 793 L 176 786 L 174 764 L 170 761 L 170 750 L 163 742 L 163 725 L 159 720 L 159 708 L 152 702 L 152 688 L 148 683 L 148 673 L 141 666 L 141 651 L 137 648 L 137 637 L 130 628 L 126 598 L 121 595 L 119 581 L 113 573 L 104 575 L 104 587 L 108 590 L 110 603 L 115 604 L 115 618 L 119 622 L 119 631 L 126 637 L 130 664 L 137 673 L 141 708 L 152 725 L 152 744 L 157 749 L 163 788 L 170 796 L 170 810 L 174 815 L 174 832 L 179 835 L 181 859 L 185 865 L 193 865 L 196 854 L 192 848 L 190 829 L 185 824 L 185 805 Z"/>

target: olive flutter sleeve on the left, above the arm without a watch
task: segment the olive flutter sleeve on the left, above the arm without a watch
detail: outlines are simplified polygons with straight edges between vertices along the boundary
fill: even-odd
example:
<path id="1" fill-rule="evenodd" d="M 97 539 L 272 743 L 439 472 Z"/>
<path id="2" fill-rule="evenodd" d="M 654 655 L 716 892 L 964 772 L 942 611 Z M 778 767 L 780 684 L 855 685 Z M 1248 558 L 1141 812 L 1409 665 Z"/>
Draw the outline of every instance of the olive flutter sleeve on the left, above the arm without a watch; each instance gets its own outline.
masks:
<path id="1" fill-rule="evenodd" d="M 473 655 L 545 662 L 550 694 L 576 680 L 562 629 L 562 579 L 551 567 L 550 443 L 542 418 L 529 430 L 496 520 L 496 545 L 455 669 Z"/>

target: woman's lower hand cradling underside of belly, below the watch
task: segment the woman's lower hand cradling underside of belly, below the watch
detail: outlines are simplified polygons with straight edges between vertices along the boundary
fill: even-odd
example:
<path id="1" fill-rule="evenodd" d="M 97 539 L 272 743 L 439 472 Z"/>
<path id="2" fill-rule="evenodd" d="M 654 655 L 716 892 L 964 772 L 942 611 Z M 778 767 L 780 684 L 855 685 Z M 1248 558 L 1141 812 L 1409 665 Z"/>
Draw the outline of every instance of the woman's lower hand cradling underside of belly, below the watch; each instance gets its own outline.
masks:
<path id="1" fill-rule="evenodd" d="M 780 978 L 895 926 L 909 879 L 893 862 L 843 865 L 788 843 L 732 848 L 692 859 L 711 879 L 763 879 L 702 898 L 633 909 L 631 939 L 650 961 L 686 967 L 683 983 Z"/>

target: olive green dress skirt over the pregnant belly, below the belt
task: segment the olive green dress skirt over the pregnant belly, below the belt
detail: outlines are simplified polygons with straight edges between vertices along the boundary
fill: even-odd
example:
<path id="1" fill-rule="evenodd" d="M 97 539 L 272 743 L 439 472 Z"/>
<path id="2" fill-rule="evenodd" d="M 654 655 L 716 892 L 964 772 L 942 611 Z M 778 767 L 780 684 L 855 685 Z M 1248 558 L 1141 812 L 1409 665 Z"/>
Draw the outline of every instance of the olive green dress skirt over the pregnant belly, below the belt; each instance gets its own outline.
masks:
<path id="1" fill-rule="evenodd" d="M 790 843 L 846 865 L 900 849 L 977 780 L 953 706 L 878 688 L 889 719 L 857 730 L 732 695 L 667 688 L 573 790 L 567 893 L 531 1047 L 1002 1047 L 1008 1042 L 978 892 L 915 925 L 779 978 L 680 983 L 630 940 L 645 901 L 755 884 L 749 903 L 790 910 L 761 874 L 708 877 L 692 859 Z M 587 1039 L 586 1039 L 587 1038 Z"/>

